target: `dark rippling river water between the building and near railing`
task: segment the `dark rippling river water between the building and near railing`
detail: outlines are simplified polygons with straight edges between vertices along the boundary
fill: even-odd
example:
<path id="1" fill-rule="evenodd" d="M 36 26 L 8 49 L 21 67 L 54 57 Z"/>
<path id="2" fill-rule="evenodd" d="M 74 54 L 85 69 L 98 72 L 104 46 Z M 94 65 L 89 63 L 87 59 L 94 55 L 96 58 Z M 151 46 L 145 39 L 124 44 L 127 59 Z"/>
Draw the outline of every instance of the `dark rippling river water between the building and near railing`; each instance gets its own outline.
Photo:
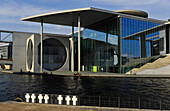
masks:
<path id="1" fill-rule="evenodd" d="M 169 87 L 170 79 L 0 74 L 0 101 L 14 100 L 25 93 L 169 98 Z"/>

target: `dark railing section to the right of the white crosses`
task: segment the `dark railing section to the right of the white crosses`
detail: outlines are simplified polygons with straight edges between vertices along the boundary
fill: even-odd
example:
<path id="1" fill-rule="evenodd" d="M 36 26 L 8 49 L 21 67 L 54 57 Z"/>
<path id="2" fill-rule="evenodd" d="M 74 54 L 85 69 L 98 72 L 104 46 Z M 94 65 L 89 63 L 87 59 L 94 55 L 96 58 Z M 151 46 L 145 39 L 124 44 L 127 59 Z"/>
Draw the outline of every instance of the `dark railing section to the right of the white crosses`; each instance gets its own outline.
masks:
<path id="1" fill-rule="evenodd" d="M 79 96 L 79 105 L 137 109 L 167 109 L 160 99 L 121 96 Z"/>

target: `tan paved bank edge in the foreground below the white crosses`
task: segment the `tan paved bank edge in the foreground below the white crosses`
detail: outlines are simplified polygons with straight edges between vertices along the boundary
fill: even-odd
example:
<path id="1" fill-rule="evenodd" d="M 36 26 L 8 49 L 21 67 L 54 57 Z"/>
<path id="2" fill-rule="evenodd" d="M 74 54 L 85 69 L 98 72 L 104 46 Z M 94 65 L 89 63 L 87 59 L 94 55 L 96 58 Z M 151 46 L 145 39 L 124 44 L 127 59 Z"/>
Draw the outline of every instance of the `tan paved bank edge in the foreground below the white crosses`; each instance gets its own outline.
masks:
<path id="1" fill-rule="evenodd" d="M 12 108 L 10 110 L 10 108 Z M 97 107 L 97 106 L 67 106 L 67 105 L 56 105 L 56 104 L 39 104 L 39 103 L 26 103 L 26 102 L 13 102 L 13 101 L 6 101 L 0 102 L 0 109 L 8 109 L 8 111 L 13 111 L 13 109 L 17 111 L 27 111 L 27 109 L 31 111 L 41 110 L 41 108 L 48 109 L 48 111 L 53 111 L 57 109 L 66 110 L 78 110 L 78 111 L 159 111 L 153 109 L 135 109 L 135 108 L 114 108 L 114 107 Z M 45 110 L 44 109 L 44 110 Z M 5 111 L 5 110 L 4 110 Z M 43 109 L 42 109 L 43 111 Z M 62 111 L 62 110 L 60 110 Z M 166 111 L 166 110 L 162 110 Z"/>

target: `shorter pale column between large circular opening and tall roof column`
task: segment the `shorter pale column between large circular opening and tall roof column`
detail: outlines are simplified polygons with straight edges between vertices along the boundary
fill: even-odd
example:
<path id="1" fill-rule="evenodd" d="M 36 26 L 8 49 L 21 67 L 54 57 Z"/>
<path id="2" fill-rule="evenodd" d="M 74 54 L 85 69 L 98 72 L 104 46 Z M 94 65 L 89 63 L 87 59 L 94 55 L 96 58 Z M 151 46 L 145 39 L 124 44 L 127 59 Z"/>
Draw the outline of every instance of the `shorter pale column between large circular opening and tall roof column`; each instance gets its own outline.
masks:
<path id="1" fill-rule="evenodd" d="M 74 72 L 74 22 L 72 23 L 72 38 L 71 38 L 71 72 Z"/>

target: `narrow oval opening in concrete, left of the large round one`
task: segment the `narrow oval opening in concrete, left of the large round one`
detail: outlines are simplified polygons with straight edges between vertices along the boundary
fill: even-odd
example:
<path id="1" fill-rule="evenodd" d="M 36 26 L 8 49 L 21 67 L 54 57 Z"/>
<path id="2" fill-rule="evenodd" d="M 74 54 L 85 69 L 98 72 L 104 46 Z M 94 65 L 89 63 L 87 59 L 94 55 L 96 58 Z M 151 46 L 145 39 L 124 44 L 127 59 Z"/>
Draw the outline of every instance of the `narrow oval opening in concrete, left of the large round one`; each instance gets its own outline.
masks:
<path id="1" fill-rule="evenodd" d="M 27 48 L 27 65 L 29 70 L 31 70 L 32 68 L 32 62 L 33 62 L 33 43 L 31 40 L 29 40 Z"/>

